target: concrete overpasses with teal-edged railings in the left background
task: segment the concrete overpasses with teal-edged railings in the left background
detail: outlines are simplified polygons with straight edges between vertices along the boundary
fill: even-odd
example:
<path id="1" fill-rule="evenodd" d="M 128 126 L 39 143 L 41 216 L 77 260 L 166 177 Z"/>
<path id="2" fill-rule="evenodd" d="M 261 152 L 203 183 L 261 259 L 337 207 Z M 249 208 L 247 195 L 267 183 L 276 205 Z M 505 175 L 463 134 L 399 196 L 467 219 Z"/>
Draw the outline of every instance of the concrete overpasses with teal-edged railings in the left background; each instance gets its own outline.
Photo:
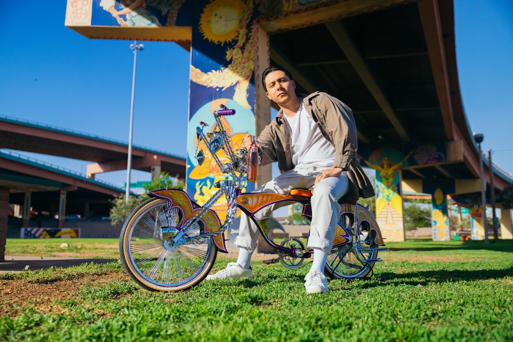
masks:
<path id="1" fill-rule="evenodd" d="M 33 224 L 32 208 L 39 218 L 46 213 L 48 218 L 44 220 L 50 224 L 51 218 L 57 215 L 57 227 L 64 228 L 66 216 L 109 216 L 110 201 L 125 192 L 123 188 L 95 180 L 94 175 L 126 169 L 126 143 L 0 117 L 0 148 L 93 162 L 88 165 L 86 176 L 17 153 L 0 151 L 0 261 L 5 252 L 9 205 L 23 208 L 22 227 Z M 178 178 L 185 177 L 184 158 L 143 147 L 133 147 L 132 167 L 152 174 L 165 171 Z"/>

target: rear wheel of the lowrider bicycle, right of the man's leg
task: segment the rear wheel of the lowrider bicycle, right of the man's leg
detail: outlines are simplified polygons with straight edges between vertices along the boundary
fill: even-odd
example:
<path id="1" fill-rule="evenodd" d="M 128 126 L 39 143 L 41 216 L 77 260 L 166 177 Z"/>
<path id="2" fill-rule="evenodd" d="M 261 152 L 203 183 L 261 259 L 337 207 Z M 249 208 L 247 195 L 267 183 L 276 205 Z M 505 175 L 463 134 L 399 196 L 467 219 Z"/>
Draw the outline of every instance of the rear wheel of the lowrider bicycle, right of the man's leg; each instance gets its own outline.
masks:
<path id="1" fill-rule="evenodd" d="M 353 213 L 346 212 L 340 215 L 339 223 L 346 229 L 346 231 L 351 232 L 351 235 L 353 235 L 353 221 Z M 324 269 L 324 272 L 328 277 L 332 279 L 364 278 L 370 273 L 370 271 L 372 271 L 375 262 L 367 262 L 366 260 L 375 260 L 378 258 L 378 251 L 376 250 L 378 245 L 374 242 L 374 234 L 376 233 L 370 229 L 370 224 L 366 220 L 361 221 L 360 226 L 360 240 L 363 242 L 361 245 L 363 252 L 359 252 L 360 257 L 357 256 L 357 251 L 354 249 L 351 242 L 342 246 L 334 247 L 328 255 L 328 260 L 326 261 Z M 365 261 L 362 261 L 361 259 Z"/>

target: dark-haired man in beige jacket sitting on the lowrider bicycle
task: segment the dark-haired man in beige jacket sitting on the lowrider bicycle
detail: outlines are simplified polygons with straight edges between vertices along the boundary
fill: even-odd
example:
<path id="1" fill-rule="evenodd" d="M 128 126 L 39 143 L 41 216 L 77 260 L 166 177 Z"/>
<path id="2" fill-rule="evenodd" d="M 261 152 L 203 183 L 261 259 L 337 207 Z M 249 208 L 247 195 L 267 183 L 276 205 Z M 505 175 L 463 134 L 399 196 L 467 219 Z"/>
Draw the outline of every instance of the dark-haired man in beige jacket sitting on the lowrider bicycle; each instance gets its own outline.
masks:
<path id="1" fill-rule="evenodd" d="M 305 277 L 307 293 L 328 292 L 324 266 L 331 252 L 340 213 L 338 199 L 355 204 L 359 197 L 371 197 L 374 189 L 357 160 L 357 128 L 352 111 L 339 99 L 323 92 L 298 96 L 292 75 L 280 66 L 262 74 L 267 97 L 280 107 L 275 119 L 258 137 L 262 164 L 278 162 L 281 174 L 254 192 L 285 194 L 295 188 L 312 191 L 312 220 L 307 248 L 313 249 L 313 263 Z M 250 148 L 250 139 L 243 145 Z M 259 213 L 261 217 L 268 212 Z M 236 263 L 207 276 L 252 278 L 251 255 L 257 247 L 259 230 L 241 214 Z"/>

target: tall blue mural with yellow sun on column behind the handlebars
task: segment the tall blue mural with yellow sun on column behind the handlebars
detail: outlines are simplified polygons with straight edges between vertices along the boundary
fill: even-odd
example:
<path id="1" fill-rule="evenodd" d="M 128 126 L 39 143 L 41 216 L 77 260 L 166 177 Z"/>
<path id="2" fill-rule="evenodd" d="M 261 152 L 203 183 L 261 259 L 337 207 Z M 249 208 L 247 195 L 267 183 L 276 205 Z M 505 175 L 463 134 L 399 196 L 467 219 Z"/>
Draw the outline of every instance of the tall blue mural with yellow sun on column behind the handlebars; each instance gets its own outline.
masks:
<path id="1" fill-rule="evenodd" d="M 201 6 L 200 6 L 201 3 Z M 252 30 L 254 3 L 241 0 L 196 2 L 190 64 L 189 128 L 187 145 L 187 193 L 200 205 L 217 190 L 212 185 L 224 179 L 203 142 L 205 162 L 200 166 L 194 157 L 198 143 L 196 126 L 200 121 L 211 126 L 212 111 L 220 105 L 235 109 L 233 116 L 223 117 L 231 135 L 232 148 L 241 148 L 245 134 L 255 134 L 254 118 L 254 36 Z M 210 126 L 210 127 L 211 127 Z M 209 127 L 206 127 L 208 129 Z M 223 159 L 223 150 L 218 152 Z M 244 184 L 245 191 L 254 184 Z M 213 207 L 225 217 L 225 199 Z"/>

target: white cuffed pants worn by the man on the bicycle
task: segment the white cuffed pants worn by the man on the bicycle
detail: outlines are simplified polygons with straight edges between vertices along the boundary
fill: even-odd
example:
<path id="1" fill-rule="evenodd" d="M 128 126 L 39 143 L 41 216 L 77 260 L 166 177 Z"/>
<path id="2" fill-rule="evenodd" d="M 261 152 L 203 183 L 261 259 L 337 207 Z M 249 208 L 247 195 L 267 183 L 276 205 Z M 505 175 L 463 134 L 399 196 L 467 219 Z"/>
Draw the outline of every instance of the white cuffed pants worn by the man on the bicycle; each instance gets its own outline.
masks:
<path id="1" fill-rule="evenodd" d="M 345 172 L 338 177 L 326 177 L 314 186 L 315 176 L 326 167 L 297 166 L 278 177 L 270 180 L 253 192 L 271 192 L 288 194 L 292 189 L 309 189 L 312 191 L 312 222 L 307 248 L 320 248 L 326 253 L 331 252 L 333 238 L 340 214 L 338 199 L 346 194 L 349 180 Z M 280 204 L 264 208 L 255 214 L 257 218 L 269 216 Z M 257 248 L 260 231 L 252 220 L 241 213 L 239 236 L 235 237 L 235 246 L 247 248 L 251 253 Z"/>

